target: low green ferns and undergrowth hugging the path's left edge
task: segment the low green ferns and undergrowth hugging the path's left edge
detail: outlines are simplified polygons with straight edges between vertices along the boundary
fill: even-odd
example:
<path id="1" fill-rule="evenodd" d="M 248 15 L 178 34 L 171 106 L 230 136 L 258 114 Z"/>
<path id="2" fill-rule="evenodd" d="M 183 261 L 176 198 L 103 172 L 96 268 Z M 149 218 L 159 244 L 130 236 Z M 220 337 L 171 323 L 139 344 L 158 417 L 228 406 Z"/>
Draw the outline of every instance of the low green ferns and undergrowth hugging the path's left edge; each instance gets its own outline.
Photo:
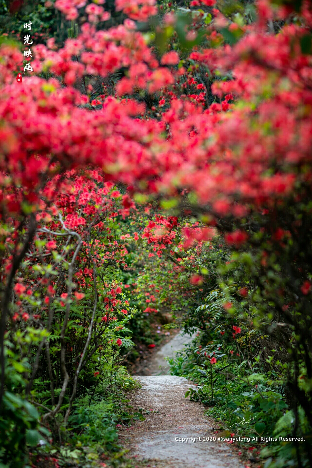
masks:
<path id="1" fill-rule="evenodd" d="M 116 366 L 112 379 L 104 373 L 93 392 L 78 399 L 73 405 L 68 425 L 60 425 L 62 445 L 58 440 L 47 441 L 46 445 L 32 449 L 32 460 L 40 456 L 58 459 L 60 466 L 74 464 L 79 468 L 99 466 L 101 460 L 108 460 L 115 466 L 115 461 L 126 462 L 122 447 L 117 443 L 118 427 L 131 424 L 133 419 L 144 420 L 142 414 L 132 411 L 127 400 L 127 393 L 138 388 L 125 367 Z M 128 465 L 127 465 L 128 466 Z"/>

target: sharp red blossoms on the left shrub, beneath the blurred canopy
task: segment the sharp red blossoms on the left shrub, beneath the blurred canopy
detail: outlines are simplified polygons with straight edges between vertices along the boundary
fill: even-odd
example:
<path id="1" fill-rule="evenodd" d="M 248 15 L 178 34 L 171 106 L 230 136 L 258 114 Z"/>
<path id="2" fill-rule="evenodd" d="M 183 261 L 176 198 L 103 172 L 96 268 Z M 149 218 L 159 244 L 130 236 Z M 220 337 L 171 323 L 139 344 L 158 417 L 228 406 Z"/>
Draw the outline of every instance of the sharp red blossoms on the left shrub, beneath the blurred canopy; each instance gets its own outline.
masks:
<path id="1" fill-rule="evenodd" d="M 15 312 L 13 320 L 28 320 L 29 314 L 23 313 L 23 308 L 27 309 L 29 300 L 33 300 L 35 291 L 41 292 L 42 308 L 37 313 L 32 313 L 32 320 L 39 319 L 41 313 L 47 307 L 50 307 L 51 301 L 57 301 L 61 307 L 65 307 L 67 292 L 63 292 L 58 285 L 58 275 L 61 270 L 57 265 L 54 276 L 49 274 L 49 266 L 42 265 L 41 275 L 38 275 L 38 263 L 40 258 L 51 259 L 55 255 L 60 255 L 64 249 L 61 233 L 64 229 L 76 236 L 81 237 L 81 247 L 76 257 L 77 266 L 73 273 L 73 279 L 80 291 L 85 291 L 88 282 L 93 281 L 94 269 L 91 268 L 90 258 L 93 259 L 94 267 L 101 268 L 105 262 L 116 262 L 125 264 L 124 256 L 128 253 L 125 246 L 116 242 L 115 234 L 106 227 L 109 219 L 113 220 L 116 216 L 129 216 L 130 207 L 127 204 L 127 196 L 121 195 L 118 190 L 112 190 L 113 183 L 105 183 L 103 175 L 99 170 L 87 170 L 82 175 L 75 171 L 65 173 L 63 177 L 55 176 L 44 190 L 39 193 L 40 211 L 36 215 L 37 234 L 36 243 L 31 253 L 26 255 L 27 273 L 25 271 L 24 280 L 17 278 L 14 286 L 15 293 L 19 296 L 16 305 L 20 307 L 20 312 Z M 57 191 L 58 196 L 55 196 Z M 51 200 L 54 202 L 51 205 Z M 124 208 L 127 205 L 127 208 Z M 135 207 L 131 202 L 131 208 Z M 95 236 L 92 247 L 88 241 L 88 235 L 93 233 Z M 68 234 L 70 235 L 70 234 Z M 73 234 L 72 234 L 73 235 Z M 60 242 L 61 241 L 61 242 Z M 15 241 L 7 239 L 7 248 L 14 248 Z M 40 248 L 36 247 L 36 244 Z M 12 265 L 12 256 L 5 259 L 5 270 L 10 271 Z M 127 315 L 129 301 L 117 299 L 116 296 L 122 293 L 119 284 L 105 283 L 102 289 L 99 289 L 104 304 L 105 314 L 102 316 L 102 322 L 112 322 L 117 320 L 115 313 Z M 84 292 L 74 291 L 73 299 L 81 300 L 85 297 Z M 26 301 L 23 303 L 22 301 Z"/>

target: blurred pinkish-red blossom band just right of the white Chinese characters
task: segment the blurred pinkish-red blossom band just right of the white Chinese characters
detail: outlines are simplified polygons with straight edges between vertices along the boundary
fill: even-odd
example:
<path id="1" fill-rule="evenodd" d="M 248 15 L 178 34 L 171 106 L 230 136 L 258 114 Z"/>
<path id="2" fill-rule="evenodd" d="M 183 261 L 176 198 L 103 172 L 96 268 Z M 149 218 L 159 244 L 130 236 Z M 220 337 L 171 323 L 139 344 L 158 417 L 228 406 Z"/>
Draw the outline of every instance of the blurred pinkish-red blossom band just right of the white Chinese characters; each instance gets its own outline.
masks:
<path id="1" fill-rule="evenodd" d="M 94 6 L 96 7 L 96 6 Z M 118 94 L 131 94 L 133 88 L 148 89 L 155 92 L 166 85 L 174 84 L 173 70 L 160 67 L 151 48 L 146 44 L 141 33 L 136 31 L 131 20 L 125 20 L 108 30 L 96 30 L 91 23 L 84 23 L 81 34 L 76 39 L 67 39 L 65 46 L 58 51 L 54 39 L 47 41 L 48 47 L 39 44 L 33 47 L 34 70 L 41 70 L 61 75 L 65 84 L 73 85 L 83 75 L 94 74 L 102 77 L 114 73 L 121 67 L 129 68 L 127 77 L 123 77 L 116 86 Z M 164 65 L 175 65 L 178 61 L 176 52 L 168 52 L 162 58 Z M 77 59 L 73 59 L 78 57 Z"/>

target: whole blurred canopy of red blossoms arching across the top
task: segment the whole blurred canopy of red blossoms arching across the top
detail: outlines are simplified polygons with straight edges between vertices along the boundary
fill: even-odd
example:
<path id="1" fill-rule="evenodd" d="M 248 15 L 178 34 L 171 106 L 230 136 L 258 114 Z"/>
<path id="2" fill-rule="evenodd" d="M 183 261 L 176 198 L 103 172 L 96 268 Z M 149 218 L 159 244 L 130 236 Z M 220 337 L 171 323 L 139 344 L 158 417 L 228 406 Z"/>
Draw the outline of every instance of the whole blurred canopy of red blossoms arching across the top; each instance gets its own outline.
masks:
<path id="1" fill-rule="evenodd" d="M 77 2 L 65 3 L 77 7 Z M 306 27 L 311 25 L 309 8 L 306 3 Z M 211 72 L 232 70 L 232 79 L 214 81 L 219 103 L 206 110 L 173 93 L 159 121 L 142 118 L 144 105 L 121 97 L 134 87 L 149 93 L 170 89 L 180 73 L 174 69 L 178 54 L 165 54 L 165 66 L 160 66 L 143 35 L 127 23 L 104 31 L 86 23 L 63 49 L 54 50 L 52 40 L 49 48 L 34 47 L 34 70 L 50 69 L 65 87 L 56 79 L 36 77 L 16 83 L 22 57 L 1 46 L 1 211 L 18 211 L 23 200 L 33 203 L 44 173 L 89 163 L 130 186 L 144 179 L 148 191 L 176 195 L 186 188 L 217 216 L 241 218 L 251 206 L 269 208 L 297 183 L 309 184 L 311 55 L 300 48 L 302 26 L 267 32 L 272 15 L 261 2 L 258 23 L 248 26 L 237 44 L 191 52 L 190 59 Z M 73 88 L 75 82 L 122 66 L 129 72 L 116 87 L 121 97 L 103 95 L 91 103 L 101 109 L 89 109 L 87 95 Z M 239 105 L 233 104 L 236 100 Z M 166 129 L 169 138 L 164 139 Z M 25 189 L 20 198 L 14 185 Z"/>

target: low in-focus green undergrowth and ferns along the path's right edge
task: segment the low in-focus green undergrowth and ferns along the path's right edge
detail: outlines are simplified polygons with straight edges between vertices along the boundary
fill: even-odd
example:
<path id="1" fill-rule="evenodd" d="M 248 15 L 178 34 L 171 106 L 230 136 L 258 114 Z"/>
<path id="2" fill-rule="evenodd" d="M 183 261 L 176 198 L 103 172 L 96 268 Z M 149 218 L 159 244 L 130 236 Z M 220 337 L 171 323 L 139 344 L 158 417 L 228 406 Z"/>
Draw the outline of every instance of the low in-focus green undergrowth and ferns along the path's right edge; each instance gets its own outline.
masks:
<path id="1" fill-rule="evenodd" d="M 232 300 L 232 307 L 225 312 L 222 303 L 229 299 Z M 202 327 L 203 320 L 205 329 L 184 351 L 178 352 L 175 358 L 168 358 L 172 375 L 186 377 L 196 384 L 195 388 L 186 392 L 185 397 L 205 404 L 207 414 L 221 428 L 238 436 L 250 437 L 250 444 L 239 443 L 241 450 L 247 454 L 249 447 L 258 446 L 258 460 L 264 459 L 265 466 L 277 468 L 288 466 L 293 461 L 295 444 L 281 442 L 279 437 L 290 437 L 294 433 L 306 439 L 306 442 L 300 441 L 298 444 L 307 460 L 311 425 L 299 407 L 299 424 L 294 432 L 295 417 L 289 410 L 284 387 L 286 369 L 278 359 L 273 358 L 276 350 L 273 349 L 273 356 L 265 359 L 255 353 L 262 348 L 265 354 L 264 344 L 268 345 L 270 337 L 261 335 L 257 329 L 250 329 L 253 317 L 242 310 L 239 314 L 239 305 L 229 296 L 227 288 L 210 292 L 206 303 L 197 307 L 190 316 L 192 318 L 186 321 L 188 329 L 191 321 L 193 325 Z M 241 331 L 233 337 L 233 322 L 237 323 L 238 320 Z M 225 331 L 222 338 L 220 330 Z M 229 352 L 233 350 L 238 352 Z M 210 364 L 212 356 L 217 358 L 217 363 L 213 365 Z M 267 435 L 274 436 L 276 441 L 263 439 L 261 448 L 256 438 Z"/>

